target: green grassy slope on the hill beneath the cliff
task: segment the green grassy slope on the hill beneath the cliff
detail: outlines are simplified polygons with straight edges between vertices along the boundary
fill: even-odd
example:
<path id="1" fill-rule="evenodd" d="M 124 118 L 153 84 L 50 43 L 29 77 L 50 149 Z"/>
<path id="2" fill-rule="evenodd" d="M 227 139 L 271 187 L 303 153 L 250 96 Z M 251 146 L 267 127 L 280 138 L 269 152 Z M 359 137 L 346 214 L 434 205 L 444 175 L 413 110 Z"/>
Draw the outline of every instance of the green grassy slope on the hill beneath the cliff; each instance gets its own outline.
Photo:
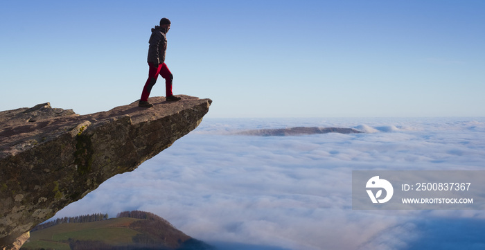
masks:
<path id="1" fill-rule="evenodd" d="M 22 249 L 55 248 L 69 250 L 69 244 L 62 242 L 73 240 L 99 240 L 107 244 L 131 244 L 132 237 L 138 231 L 128 225 L 139 219 L 116 218 L 100 222 L 67 223 L 51 226 L 47 229 L 30 233 L 30 239 Z"/>

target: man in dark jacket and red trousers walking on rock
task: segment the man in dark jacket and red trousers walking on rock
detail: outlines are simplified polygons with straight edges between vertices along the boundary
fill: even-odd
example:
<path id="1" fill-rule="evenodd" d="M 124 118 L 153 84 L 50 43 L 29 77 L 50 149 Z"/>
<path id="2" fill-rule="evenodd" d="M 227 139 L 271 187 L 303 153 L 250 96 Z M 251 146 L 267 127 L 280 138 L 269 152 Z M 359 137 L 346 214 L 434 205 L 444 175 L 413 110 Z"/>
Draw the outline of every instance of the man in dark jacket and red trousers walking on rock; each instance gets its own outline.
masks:
<path id="1" fill-rule="evenodd" d="M 173 75 L 165 64 L 165 52 L 167 49 L 167 32 L 170 30 L 170 20 L 162 18 L 160 20 L 160 26 L 152 28 L 152 35 L 148 43 L 148 79 L 145 82 L 145 87 L 141 92 L 141 98 L 138 103 L 139 107 L 153 107 L 148 102 L 148 96 L 152 91 L 153 85 L 157 82 L 158 75 L 165 79 L 166 100 L 169 102 L 180 100 L 181 98 L 173 96 L 172 93 L 172 80 Z"/>

